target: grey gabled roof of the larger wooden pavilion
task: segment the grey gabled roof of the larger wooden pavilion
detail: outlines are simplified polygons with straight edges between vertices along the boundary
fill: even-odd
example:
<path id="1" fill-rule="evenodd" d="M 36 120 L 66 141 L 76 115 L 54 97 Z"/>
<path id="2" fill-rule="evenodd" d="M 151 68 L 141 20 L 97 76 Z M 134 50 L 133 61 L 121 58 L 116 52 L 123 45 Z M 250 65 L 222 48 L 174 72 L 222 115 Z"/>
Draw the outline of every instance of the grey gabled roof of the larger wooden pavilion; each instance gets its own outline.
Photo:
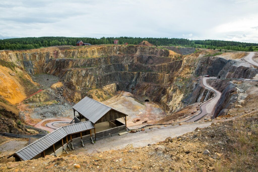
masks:
<path id="1" fill-rule="evenodd" d="M 80 100 L 76 105 L 72 107 L 77 112 L 82 114 L 85 118 L 90 120 L 92 123 L 96 123 L 102 116 L 104 116 L 108 111 L 110 111 L 111 107 L 100 103 L 99 101 L 93 100 L 89 97 L 84 97 Z M 113 109 L 115 110 L 115 109 Z M 117 111 L 117 110 L 115 110 Z M 119 111 L 117 111 L 119 112 Z M 122 113 L 122 112 L 120 112 Z M 122 113 L 124 114 L 124 113 Z M 124 114 L 126 115 L 126 114 Z"/>

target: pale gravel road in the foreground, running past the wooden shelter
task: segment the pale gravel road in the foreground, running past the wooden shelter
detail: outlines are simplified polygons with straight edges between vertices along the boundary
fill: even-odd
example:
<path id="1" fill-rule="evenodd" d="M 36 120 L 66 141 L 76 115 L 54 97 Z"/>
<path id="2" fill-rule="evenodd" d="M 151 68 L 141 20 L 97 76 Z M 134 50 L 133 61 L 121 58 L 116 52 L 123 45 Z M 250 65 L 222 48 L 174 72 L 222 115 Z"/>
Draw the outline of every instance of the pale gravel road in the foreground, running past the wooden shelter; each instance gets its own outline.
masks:
<path id="1" fill-rule="evenodd" d="M 167 127 L 160 126 L 160 128 L 146 129 L 136 133 L 127 133 L 124 135 L 117 135 L 108 137 L 106 139 L 97 140 L 94 145 L 85 143 L 85 147 L 75 148 L 75 151 L 68 151 L 71 154 L 83 152 L 83 153 L 97 153 L 108 150 L 122 149 L 128 144 L 132 144 L 133 147 L 147 146 L 148 144 L 154 144 L 165 140 L 167 137 L 177 137 L 187 132 L 195 130 L 197 127 L 208 127 L 212 122 L 192 123 L 186 125 L 168 125 Z M 119 142 L 119 144 L 117 144 Z M 108 143 L 108 144 L 107 144 Z"/>

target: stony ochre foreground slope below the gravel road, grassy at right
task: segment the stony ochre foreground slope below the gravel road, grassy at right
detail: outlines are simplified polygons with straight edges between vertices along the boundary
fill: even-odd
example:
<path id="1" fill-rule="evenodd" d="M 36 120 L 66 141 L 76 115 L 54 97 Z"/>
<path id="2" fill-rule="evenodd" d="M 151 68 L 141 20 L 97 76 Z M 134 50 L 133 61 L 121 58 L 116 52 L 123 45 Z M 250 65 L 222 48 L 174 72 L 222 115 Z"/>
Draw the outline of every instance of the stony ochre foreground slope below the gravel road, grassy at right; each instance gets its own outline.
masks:
<path id="1" fill-rule="evenodd" d="M 1 171 L 255 171 L 257 112 L 145 147 L 21 162 L 1 163 Z M 241 140 L 241 138 L 242 140 Z M 244 139 L 244 140 L 243 140 Z M 236 153 L 237 152 L 237 153 Z M 248 153 L 249 156 L 245 156 Z M 246 163 L 248 162 L 248 163 Z"/>

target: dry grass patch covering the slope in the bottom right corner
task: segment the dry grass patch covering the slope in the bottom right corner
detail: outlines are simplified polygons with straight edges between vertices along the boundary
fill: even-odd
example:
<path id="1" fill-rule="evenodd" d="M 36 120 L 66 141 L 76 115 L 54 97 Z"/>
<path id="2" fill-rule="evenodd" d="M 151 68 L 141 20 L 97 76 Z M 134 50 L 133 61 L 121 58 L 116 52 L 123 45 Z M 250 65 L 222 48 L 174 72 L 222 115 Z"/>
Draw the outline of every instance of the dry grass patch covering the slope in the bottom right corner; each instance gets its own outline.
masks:
<path id="1" fill-rule="evenodd" d="M 257 171 L 258 114 L 238 120 L 227 131 L 229 162 L 218 163 L 216 171 Z"/>

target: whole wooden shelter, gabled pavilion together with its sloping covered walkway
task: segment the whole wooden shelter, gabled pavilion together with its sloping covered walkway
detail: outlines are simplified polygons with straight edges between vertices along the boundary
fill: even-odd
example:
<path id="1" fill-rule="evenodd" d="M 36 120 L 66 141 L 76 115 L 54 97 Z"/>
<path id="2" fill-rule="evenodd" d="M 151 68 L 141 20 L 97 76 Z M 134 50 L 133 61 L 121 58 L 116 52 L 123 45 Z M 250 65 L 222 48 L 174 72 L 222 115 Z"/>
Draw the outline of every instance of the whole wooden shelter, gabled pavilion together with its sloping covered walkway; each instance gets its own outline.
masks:
<path id="1" fill-rule="evenodd" d="M 25 161 L 45 155 L 60 156 L 74 147 L 84 147 L 84 143 L 94 144 L 93 138 L 99 140 L 126 132 L 127 115 L 96 100 L 84 97 L 72 108 L 74 120 L 71 122 L 75 124 L 60 127 L 7 158 L 13 156 L 15 161 Z"/>

